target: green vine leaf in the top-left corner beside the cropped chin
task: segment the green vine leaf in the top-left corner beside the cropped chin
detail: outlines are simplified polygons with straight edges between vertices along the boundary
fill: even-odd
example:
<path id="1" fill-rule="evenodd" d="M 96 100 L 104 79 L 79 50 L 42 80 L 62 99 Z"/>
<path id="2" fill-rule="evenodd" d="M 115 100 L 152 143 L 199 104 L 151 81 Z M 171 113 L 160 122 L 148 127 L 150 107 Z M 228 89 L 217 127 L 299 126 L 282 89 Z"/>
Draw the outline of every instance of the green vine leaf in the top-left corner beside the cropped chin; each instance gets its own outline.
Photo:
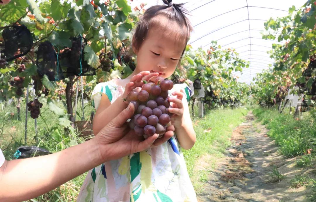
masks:
<path id="1" fill-rule="evenodd" d="M 26 7 L 16 6 L 13 2 L 8 3 L 7 5 L 1 7 L 0 19 L 1 21 L 14 23 L 16 20 L 19 20 L 25 13 Z"/>

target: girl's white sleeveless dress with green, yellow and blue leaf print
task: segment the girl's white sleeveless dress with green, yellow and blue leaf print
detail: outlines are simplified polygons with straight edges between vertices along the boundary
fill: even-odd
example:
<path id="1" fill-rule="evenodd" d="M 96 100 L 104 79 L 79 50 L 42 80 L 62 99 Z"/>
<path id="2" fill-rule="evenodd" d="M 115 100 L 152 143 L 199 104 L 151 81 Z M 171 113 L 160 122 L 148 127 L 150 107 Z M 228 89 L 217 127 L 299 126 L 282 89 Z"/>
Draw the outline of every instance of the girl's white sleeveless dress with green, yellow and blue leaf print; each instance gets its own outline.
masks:
<path id="1" fill-rule="evenodd" d="M 169 95 L 182 90 L 192 96 L 186 84 L 175 84 Z M 92 92 L 97 109 L 101 95 L 113 103 L 124 92 L 110 82 L 97 84 Z M 176 136 L 155 148 L 105 162 L 89 171 L 77 201 L 197 201 Z"/>

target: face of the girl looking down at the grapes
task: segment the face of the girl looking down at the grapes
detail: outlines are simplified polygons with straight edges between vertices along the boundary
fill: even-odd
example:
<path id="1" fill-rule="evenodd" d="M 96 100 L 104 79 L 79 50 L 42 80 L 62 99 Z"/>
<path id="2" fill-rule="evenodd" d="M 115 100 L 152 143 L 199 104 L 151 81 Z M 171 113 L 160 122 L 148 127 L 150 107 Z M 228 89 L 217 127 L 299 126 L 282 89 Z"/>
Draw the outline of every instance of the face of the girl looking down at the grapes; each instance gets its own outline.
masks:
<path id="1" fill-rule="evenodd" d="M 171 28 L 172 26 L 174 25 L 170 25 Z M 139 50 L 135 51 L 137 55 L 136 71 L 158 72 L 159 77 L 170 77 L 179 64 L 185 44 L 184 37 L 151 28 Z"/>

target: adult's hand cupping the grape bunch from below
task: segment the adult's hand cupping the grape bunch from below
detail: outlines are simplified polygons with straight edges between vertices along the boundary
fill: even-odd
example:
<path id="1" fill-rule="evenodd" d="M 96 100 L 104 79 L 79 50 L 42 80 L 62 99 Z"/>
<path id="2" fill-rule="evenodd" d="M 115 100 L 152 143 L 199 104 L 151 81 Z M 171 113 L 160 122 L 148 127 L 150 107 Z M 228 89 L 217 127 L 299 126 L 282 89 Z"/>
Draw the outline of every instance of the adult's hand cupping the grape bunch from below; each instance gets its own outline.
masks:
<path id="1" fill-rule="evenodd" d="M 168 127 L 165 135 L 159 139 L 157 139 L 158 134 L 154 134 L 145 140 L 143 137 L 137 136 L 134 130 L 131 130 L 126 124 L 127 119 L 133 116 L 134 111 L 134 105 L 130 103 L 125 110 L 92 139 L 99 147 L 101 159 L 104 159 L 104 161 L 119 159 L 146 150 L 149 147 L 161 145 L 173 136 L 173 127 Z"/>

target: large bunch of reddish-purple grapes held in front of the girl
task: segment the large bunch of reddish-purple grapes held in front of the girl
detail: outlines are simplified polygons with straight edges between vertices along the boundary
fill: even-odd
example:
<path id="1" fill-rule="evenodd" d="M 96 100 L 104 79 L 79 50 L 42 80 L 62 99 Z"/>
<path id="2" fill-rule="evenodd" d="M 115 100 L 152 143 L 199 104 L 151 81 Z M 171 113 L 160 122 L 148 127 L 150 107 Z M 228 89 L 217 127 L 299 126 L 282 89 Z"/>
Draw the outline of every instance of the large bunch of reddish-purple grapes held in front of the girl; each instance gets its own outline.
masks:
<path id="1" fill-rule="evenodd" d="M 171 107 L 168 90 L 172 88 L 171 80 L 158 77 L 155 83 L 143 84 L 127 95 L 127 101 L 134 104 L 136 113 L 129 125 L 138 136 L 148 138 L 157 133 L 160 138 L 165 134 L 171 115 L 168 112 Z"/>

